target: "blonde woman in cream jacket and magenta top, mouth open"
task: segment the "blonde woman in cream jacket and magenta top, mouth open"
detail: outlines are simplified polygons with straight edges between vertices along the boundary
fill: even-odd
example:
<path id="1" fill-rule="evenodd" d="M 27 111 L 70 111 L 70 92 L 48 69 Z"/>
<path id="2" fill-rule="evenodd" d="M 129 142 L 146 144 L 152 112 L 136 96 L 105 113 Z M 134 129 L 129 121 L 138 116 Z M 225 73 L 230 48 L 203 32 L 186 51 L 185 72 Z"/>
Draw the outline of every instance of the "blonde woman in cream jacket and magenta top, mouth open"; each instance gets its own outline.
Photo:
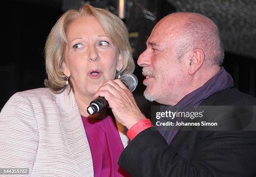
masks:
<path id="1" fill-rule="evenodd" d="M 14 94 L 0 113 L 0 168 L 27 168 L 33 177 L 129 176 L 118 166 L 129 142 L 124 127 L 108 111 L 86 111 L 103 83 L 134 70 L 123 22 L 90 5 L 68 10 L 45 58 L 47 88 Z"/>

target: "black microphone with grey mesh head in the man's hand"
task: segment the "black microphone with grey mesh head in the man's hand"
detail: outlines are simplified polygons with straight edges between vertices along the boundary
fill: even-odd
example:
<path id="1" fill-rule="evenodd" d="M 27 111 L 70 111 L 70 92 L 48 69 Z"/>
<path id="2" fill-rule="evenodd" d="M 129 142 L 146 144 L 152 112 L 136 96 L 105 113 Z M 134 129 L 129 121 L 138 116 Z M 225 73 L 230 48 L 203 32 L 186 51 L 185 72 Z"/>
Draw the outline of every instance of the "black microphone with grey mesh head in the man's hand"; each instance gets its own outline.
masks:
<path id="1" fill-rule="evenodd" d="M 131 73 L 124 74 L 119 79 L 125 84 L 125 86 L 131 92 L 133 92 L 135 90 L 136 86 L 138 85 L 137 77 Z M 100 111 L 102 111 L 106 107 L 108 107 L 108 101 L 104 97 L 98 96 L 87 107 L 87 112 L 90 115 L 97 114 L 97 113 L 100 113 Z"/>

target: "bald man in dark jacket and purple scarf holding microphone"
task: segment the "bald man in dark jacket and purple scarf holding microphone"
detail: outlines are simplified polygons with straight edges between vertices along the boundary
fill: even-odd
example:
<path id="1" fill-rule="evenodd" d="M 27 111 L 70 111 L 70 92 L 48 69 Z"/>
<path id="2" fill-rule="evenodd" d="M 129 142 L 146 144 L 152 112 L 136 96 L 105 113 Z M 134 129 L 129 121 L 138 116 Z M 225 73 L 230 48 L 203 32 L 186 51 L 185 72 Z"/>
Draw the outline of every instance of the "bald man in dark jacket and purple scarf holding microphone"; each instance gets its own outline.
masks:
<path id="1" fill-rule="evenodd" d="M 233 88 L 232 77 L 221 66 L 223 46 L 209 18 L 195 13 L 167 15 L 156 24 L 146 46 L 138 65 L 146 76 L 144 96 L 149 101 L 183 108 L 192 105 L 190 112 L 201 105 L 256 105 L 255 98 Z M 108 100 L 115 118 L 128 128 L 131 142 L 119 164 L 134 177 L 256 175 L 256 131 L 182 131 L 184 126 L 154 131 L 118 79 L 103 84 L 97 96 Z M 237 110 L 222 111 L 213 108 L 211 117 L 224 120 L 221 130 L 239 127 L 233 116 Z"/>

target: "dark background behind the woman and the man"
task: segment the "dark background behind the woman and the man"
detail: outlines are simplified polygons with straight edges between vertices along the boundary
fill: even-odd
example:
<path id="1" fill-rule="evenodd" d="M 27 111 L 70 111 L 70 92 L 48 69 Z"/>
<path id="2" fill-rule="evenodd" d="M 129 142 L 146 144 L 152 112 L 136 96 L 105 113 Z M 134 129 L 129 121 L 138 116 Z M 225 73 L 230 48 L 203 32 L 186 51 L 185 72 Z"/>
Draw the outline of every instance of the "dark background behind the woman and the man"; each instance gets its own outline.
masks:
<path id="1" fill-rule="evenodd" d="M 44 87 L 46 78 L 44 44 L 51 28 L 64 10 L 90 3 L 118 13 L 119 0 L 3 0 L 2 50 L 0 63 L 0 109 L 18 91 Z M 220 28 L 225 46 L 223 66 L 233 76 L 235 87 L 256 96 L 256 2 L 255 0 L 126 0 L 123 21 L 130 33 L 135 62 L 145 49 L 154 25 L 176 11 L 196 12 L 211 18 Z M 118 14 L 117 14 L 118 15 Z M 138 87 L 134 96 L 147 112 L 150 103 L 143 97 L 141 67 L 136 64 Z"/>

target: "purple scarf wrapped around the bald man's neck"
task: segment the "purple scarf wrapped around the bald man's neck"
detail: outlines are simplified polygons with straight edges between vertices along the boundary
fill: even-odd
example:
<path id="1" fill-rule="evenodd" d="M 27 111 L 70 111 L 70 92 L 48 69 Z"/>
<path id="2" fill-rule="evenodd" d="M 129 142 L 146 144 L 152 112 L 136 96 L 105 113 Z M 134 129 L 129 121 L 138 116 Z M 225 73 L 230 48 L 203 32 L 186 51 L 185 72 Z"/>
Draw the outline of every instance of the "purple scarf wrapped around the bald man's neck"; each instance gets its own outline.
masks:
<path id="1" fill-rule="evenodd" d="M 202 101 L 207 99 L 209 96 L 233 86 L 233 78 L 223 67 L 221 67 L 220 71 L 215 76 L 210 78 L 210 80 L 208 80 L 203 86 L 184 96 L 175 106 L 168 106 L 169 110 L 171 109 L 172 111 L 184 111 L 185 108 L 190 109 L 187 111 L 194 111 L 197 109 L 197 106 L 199 106 Z M 170 144 L 178 131 L 179 130 L 174 128 L 171 131 L 161 130 L 159 132 L 166 139 L 166 142 Z"/>

